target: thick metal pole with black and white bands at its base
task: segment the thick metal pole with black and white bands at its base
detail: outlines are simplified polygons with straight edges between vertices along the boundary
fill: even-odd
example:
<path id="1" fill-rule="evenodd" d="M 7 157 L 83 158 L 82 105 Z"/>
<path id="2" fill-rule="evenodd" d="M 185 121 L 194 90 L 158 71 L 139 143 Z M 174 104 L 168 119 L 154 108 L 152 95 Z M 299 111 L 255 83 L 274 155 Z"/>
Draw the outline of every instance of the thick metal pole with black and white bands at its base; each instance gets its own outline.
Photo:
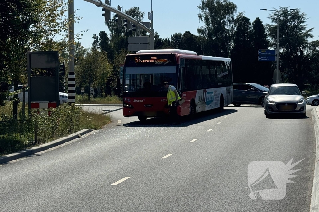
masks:
<path id="1" fill-rule="evenodd" d="M 75 103 L 75 75 L 74 75 L 74 0 L 69 0 L 69 74 L 68 74 L 68 102 Z"/>

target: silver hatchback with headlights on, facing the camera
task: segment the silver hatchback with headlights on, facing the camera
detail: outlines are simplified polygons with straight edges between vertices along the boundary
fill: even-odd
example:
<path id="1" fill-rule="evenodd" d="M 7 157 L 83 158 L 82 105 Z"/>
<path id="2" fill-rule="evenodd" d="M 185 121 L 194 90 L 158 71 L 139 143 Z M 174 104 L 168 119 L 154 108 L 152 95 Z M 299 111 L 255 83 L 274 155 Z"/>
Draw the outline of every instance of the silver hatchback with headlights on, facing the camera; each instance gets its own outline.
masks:
<path id="1" fill-rule="evenodd" d="M 265 115 L 269 118 L 271 114 L 297 113 L 306 116 L 306 100 L 295 84 L 274 84 L 265 93 Z"/>

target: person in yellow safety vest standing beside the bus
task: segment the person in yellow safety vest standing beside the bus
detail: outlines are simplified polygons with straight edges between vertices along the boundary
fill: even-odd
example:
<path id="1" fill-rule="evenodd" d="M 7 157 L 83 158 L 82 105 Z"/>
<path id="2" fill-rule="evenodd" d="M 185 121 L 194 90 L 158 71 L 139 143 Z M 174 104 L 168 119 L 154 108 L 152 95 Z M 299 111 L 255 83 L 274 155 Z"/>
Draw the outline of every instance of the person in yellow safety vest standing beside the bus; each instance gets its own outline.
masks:
<path id="1" fill-rule="evenodd" d="M 172 118 L 173 124 L 180 124 L 181 121 L 177 114 L 177 106 L 179 105 L 178 100 L 181 99 L 177 93 L 176 88 L 173 85 L 169 85 L 168 82 L 164 82 L 164 86 L 168 89 L 167 91 L 167 104 L 170 106 L 169 113 Z M 177 96 L 177 99 L 176 99 Z"/>

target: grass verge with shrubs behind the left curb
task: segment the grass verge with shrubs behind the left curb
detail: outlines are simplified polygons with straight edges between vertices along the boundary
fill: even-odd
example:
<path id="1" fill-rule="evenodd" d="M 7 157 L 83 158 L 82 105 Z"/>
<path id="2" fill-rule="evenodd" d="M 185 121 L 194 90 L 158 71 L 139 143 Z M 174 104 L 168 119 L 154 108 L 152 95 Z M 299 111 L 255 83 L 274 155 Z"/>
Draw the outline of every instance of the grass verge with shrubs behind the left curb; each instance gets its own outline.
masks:
<path id="1" fill-rule="evenodd" d="M 15 120 L 12 118 L 12 102 L 0 106 L 0 156 L 38 146 L 82 129 L 100 129 L 111 121 L 109 114 L 100 115 L 98 111 L 84 111 L 81 107 L 69 104 L 50 109 L 51 116 L 32 113 L 29 118 L 27 111 L 26 106 L 26 115 L 23 115 L 22 103 L 19 103 L 19 116 Z"/>

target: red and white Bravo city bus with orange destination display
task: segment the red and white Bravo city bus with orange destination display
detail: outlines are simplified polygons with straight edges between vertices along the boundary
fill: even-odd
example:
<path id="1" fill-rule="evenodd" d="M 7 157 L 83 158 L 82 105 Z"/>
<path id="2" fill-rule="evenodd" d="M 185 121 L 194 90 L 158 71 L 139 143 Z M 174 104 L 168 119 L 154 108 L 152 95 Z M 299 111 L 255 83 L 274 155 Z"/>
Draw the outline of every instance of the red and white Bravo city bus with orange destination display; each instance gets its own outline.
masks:
<path id="1" fill-rule="evenodd" d="M 185 100 L 177 108 L 180 116 L 223 110 L 233 102 L 230 58 L 178 49 L 141 50 L 126 56 L 122 79 L 123 116 L 141 121 L 169 114 L 165 81 Z"/>

